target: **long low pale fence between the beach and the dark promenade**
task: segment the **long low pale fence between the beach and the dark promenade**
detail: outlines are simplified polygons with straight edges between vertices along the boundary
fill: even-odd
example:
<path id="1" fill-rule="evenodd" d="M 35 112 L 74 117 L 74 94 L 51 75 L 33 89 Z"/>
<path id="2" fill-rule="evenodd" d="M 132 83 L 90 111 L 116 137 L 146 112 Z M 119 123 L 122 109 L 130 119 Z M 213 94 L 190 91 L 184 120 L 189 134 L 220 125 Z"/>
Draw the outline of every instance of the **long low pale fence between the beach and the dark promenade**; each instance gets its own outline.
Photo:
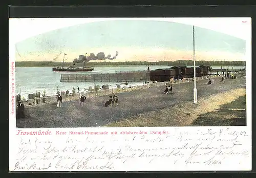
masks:
<path id="1" fill-rule="evenodd" d="M 196 80 L 203 80 L 203 79 L 215 78 L 215 77 L 218 77 L 218 76 L 215 75 L 215 76 L 197 77 Z M 75 94 L 71 93 L 68 95 L 61 95 L 61 96 L 62 96 L 62 102 L 75 101 L 75 100 L 79 100 L 82 94 L 86 97 L 108 96 L 108 95 L 114 95 L 114 94 L 118 94 L 118 93 L 122 93 L 122 92 L 143 90 L 145 88 L 165 86 L 167 84 L 175 85 L 175 84 L 191 82 L 191 81 L 194 81 L 194 78 L 187 78 L 187 79 L 182 79 L 182 80 L 170 80 L 170 81 L 166 81 L 166 82 L 155 82 L 155 83 L 152 82 L 152 83 L 146 83 L 143 85 L 136 85 L 136 86 L 131 86 L 131 87 L 129 85 L 126 85 L 121 88 L 112 88 L 109 90 L 98 90 L 98 91 L 92 91 L 92 92 L 81 92 L 81 93 L 75 93 Z M 49 103 L 57 103 L 57 95 L 23 100 L 23 104 L 25 105 L 25 107 L 33 107 L 33 106 L 44 105 L 44 104 L 49 104 Z"/>

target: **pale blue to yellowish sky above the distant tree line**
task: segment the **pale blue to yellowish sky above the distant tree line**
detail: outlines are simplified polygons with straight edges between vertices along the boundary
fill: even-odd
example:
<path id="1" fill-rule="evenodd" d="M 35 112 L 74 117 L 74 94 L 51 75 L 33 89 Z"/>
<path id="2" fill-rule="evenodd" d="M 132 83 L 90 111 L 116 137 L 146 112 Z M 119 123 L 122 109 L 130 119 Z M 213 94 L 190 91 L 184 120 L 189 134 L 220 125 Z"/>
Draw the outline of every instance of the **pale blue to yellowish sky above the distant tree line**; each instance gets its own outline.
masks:
<path id="1" fill-rule="evenodd" d="M 31 21 L 33 22 L 30 20 L 30 23 Z M 73 61 L 74 58 L 85 53 L 96 55 L 104 52 L 105 55 L 114 56 L 116 51 L 118 51 L 116 59 L 106 61 L 193 60 L 193 26 L 182 24 L 184 21 L 182 23 L 174 21 L 91 20 L 90 23 L 81 21 L 78 25 L 71 23 L 70 26 L 59 29 L 57 27 L 54 29 L 54 25 L 51 25 L 53 30 L 45 30 L 46 32 L 41 34 L 35 33 L 27 38 L 24 37 L 26 35 L 17 33 L 16 61 L 51 61 L 59 54 L 57 61 L 61 61 L 64 53 L 67 54 L 67 61 Z M 62 21 L 61 26 L 63 23 L 65 24 L 65 21 Z M 40 25 L 47 23 L 41 22 Z M 218 24 L 211 23 L 211 25 L 214 25 L 215 30 L 218 27 Z M 225 25 L 227 26 L 227 23 Z M 29 25 L 23 23 L 20 29 L 25 26 Z M 234 28 L 236 24 L 232 21 L 230 23 L 232 28 L 229 31 L 225 28 L 224 33 L 218 29 L 214 31 L 209 30 L 209 27 L 198 26 L 195 26 L 197 60 L 245 60 L 247 38 L 242 36 L 244 33 L 241 29 L 241 34 L 239 33 L 239 25 Z M 220 23 L 219 27 L 223 28 L 223 23 Z M 15 32 L 13 28 L 12 30 Z M 234 31 L 237 33 L 235 34 Z"/>

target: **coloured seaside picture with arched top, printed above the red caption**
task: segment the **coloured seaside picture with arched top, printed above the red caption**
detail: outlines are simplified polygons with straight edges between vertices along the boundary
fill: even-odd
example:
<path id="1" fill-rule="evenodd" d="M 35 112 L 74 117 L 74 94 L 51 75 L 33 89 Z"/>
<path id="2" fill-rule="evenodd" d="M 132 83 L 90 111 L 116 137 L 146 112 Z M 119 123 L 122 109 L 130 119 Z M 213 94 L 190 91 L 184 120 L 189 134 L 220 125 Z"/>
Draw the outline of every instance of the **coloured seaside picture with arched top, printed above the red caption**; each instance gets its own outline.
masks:
<path id="1" fill-rule="evenodd" d="M 19 20 L 40 25 L 15 44 L 18 128 L 246 125 L 246 42 L 221 24 Z"/>

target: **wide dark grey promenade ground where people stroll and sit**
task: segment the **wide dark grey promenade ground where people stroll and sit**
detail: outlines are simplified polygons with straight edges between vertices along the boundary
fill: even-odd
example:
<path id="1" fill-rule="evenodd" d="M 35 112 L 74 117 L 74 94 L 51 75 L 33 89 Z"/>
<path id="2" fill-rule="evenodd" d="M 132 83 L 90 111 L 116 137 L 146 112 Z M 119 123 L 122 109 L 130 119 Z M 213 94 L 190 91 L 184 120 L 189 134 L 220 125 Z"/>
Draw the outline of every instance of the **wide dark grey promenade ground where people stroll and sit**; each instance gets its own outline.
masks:
<path id="1" fill-rule="evenodd" d="M 225 84 L 219 81 L 220 78 L 215 78 L 212 85 L 206 85 L 207 79 L 198 81 L 198 99 L 236 88 L 245 88 L 244 77 L 238 77 L 236 80 L 226 79 Z M 154 110 L 173 107 L 178 103 L 193 102 L 193 88 L 194 82 L 188 82 L 174 85 L 173 94 L 163 94 L 164 87 L 120 93 L 120 103 L 115 107 L 104 107 L 109 96 L 87 98 L 84 108 L 79 107 L 79 101 L 63 102 L 61 108 L 56 108 L 56 104 L 36 106 L 27 109 L 26 119 L 17 120 L 17 127 L 105 126 Z"/>

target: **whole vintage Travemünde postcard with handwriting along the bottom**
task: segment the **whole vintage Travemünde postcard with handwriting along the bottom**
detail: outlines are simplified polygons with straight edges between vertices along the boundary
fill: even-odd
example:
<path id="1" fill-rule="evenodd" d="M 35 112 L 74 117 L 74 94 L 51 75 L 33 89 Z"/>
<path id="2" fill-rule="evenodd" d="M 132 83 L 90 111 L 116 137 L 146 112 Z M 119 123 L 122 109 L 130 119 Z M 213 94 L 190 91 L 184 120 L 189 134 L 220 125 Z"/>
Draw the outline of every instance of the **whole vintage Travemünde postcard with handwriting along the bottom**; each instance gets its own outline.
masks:
<path id="1" fill-rule="evenodd" d="M 10 18 L 10 171 L 251 170 L 251 18 Z"/>

